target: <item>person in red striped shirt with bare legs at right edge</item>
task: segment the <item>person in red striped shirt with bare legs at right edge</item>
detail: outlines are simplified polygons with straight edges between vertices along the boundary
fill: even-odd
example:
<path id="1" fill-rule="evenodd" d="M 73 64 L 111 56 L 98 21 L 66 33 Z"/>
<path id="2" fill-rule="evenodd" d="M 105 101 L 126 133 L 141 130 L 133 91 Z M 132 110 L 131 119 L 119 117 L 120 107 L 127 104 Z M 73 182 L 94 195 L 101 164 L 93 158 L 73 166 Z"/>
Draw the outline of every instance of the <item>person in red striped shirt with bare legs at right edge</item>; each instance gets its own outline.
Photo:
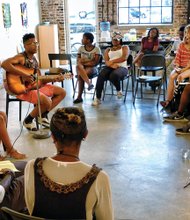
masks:
<path id="1" fill-rule="evenodd" d="M 190 25 L 185 27 L 184 39 L 180 43 L 174 60 L 174 70 L 171 72 L 168 83 L 167 99 L 160 104 L 167 108 L 174 95 L 175 81 L 185 78 L 190 68 Z M 180 80 L 181 80 L 180 79 Z"/>

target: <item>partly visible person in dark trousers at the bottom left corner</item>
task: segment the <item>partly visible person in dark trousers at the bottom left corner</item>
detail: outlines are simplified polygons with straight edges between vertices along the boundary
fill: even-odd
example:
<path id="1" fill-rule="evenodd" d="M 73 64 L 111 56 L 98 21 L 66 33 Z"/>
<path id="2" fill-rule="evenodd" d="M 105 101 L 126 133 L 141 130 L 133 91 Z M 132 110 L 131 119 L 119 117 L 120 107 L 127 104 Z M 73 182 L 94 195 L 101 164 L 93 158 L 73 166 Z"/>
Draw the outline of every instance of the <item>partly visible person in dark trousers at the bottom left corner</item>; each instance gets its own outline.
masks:
<path id="1" fill-rule="evenodd" d="M 0 208 L 6 206 L 15 211 L 22 211 L 26 207 L 24 199 L 24 168 L 26 162 L 17 161 L 14 165 L 20 172 L 14 173 L 8 169 L 1 170 Z M 1 211 L 0 219 L 4 219 Z"/>

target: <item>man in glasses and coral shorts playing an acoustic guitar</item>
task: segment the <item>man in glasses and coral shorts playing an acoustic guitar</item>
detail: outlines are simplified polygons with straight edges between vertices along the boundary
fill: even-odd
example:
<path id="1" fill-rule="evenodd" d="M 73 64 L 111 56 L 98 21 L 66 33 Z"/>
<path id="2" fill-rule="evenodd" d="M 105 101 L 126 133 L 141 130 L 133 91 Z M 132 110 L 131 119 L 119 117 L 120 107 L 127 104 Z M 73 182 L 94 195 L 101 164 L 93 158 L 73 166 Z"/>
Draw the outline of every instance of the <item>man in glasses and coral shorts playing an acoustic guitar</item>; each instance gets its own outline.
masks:
<path id="1" fill-rule="evenodd" d="M 26 82 L 24 84 L 26 86 L 25 91 L 22 94 L 17 95 L 16 97 L 18 99 L 35 104 L 34 109 L 25 118 L 23 123 L 28 130 L 35 131 L 37 129 L 35 123 L 33 122 L 33 119 L 39 116 L 37 85 L 34 82 L 33 74 L 29 74 L 28 72 L 26 72 L 26 68 L 28 68 L 28 70 L 33 69 L 33 73 L 37 72 L 37 74 L 40 75 L 38 62 L 34 56 L 34 54 L 37 52 L 38 42 L 36 42 L 35 35 L 30 33 L 23 36 L 23 44 L 25 51 L 5 60 L 2 63 L 2 67 L 9 73 L 11 72 L 14 73 L 16 76 L 21 76 L 22 81 Z M 20 66 L 23 66 L 23 70 L 22 68 L 20 68 Z M 61 80 L 62 76 L 60 75 L 56 79 L 54 79 L 54 82 Z M 50 81 L 52 81 L 52 79 L 46 79 L 45 81 L 39 80 L 39 99 L 42 113 L 42 121 L 39 121 L 39 123 L 42 123 L 42 125 L 45 127 L 49 127 L 49 121 L 47 119 L 48 112 L 51 111 L 55 106 L 57 106 L 66 95 L 66 92 L 63 88 L 55 85 L 46 84 Z"/>

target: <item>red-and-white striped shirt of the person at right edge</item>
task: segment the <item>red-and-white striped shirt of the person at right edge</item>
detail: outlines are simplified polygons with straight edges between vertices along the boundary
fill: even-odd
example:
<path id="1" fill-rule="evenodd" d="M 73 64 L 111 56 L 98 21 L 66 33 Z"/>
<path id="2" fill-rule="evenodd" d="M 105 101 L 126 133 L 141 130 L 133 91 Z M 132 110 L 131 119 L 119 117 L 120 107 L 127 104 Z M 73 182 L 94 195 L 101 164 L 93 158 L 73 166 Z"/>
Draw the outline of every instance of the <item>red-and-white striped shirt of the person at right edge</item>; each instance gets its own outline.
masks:
<path id="1" fill-rule="evenodd" d="M 181 42 L 178 47 L 174 65 L 178 67 L 186 67 L 187 65 L 190 65 L 190 49 L 185 47 L 184 42 Z"/>

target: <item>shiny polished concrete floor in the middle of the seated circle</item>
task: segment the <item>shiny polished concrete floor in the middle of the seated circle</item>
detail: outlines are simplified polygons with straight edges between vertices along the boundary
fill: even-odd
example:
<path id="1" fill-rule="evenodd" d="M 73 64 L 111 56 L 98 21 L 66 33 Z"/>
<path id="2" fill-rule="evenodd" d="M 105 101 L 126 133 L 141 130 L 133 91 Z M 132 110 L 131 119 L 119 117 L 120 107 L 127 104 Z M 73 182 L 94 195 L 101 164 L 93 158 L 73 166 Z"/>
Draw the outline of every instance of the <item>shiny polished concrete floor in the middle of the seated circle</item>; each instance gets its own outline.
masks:
<path id="1" fill-rule="evenodd" d="M 60 107 L 73 105 L 71 81 L 65 82 L 65 88 L 67 97 Z M 79 105 L 86 112 L 89 129 L 80 158 L 109 174 L 115 218 L 190 220 L 190 186 L 183 189 L 190 162 L 182 159 L 182 152 L 190 148 L 190 136 L 175 135 L 181 124 L 164 124 L 154 100 L 137 99 L 134 107 L 131 93 L 126 104 L 106 96 L 101 106 L 92 107 L 91 99 L 86 95 Z M 0 100 L 0 110 L 5 111 L 4 90 L 0 90 Z M 8 130 L 12 141 L 21 131 L 17 105 L 10 104 Z M 23 118 L 28 108 L 28 103 L 23 103 Z M 55 153 L 51 138 L 33 139 L 26 129 L 15 148 L 28 159 Z"/>

